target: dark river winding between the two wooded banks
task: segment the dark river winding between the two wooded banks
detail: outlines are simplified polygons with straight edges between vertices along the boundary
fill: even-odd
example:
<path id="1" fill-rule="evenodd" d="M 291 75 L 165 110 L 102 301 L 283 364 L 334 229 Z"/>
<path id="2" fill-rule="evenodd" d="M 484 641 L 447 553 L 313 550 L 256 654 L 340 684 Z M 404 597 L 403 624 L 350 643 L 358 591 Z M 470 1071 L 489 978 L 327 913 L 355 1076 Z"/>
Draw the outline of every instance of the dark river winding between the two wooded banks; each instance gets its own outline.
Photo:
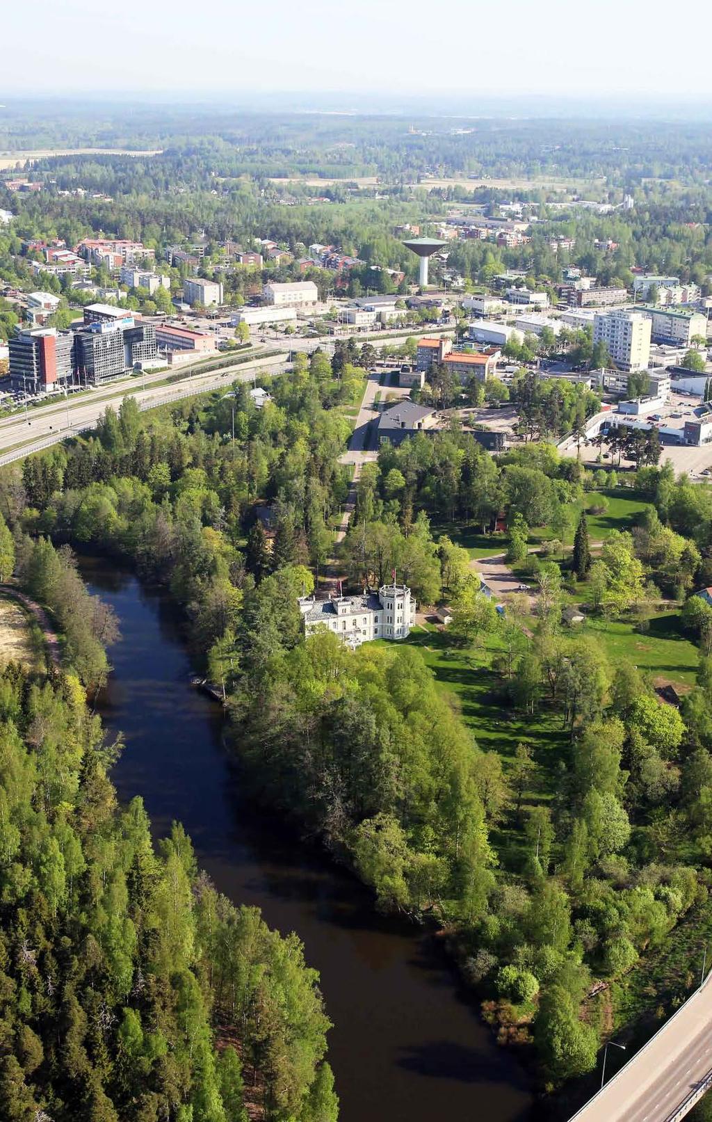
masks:
<path id="1" fill-rule="evenodd" d="M 119 794 L 142 795 L 159 833 L 182 821 L 222 892 L 304 941 L 334 1022 L 329 1059 L 342 1122 L 530 1122 L 526 1077 L 479 1021 L 433 937 L 379 918 L 348 872 L 249 806 L 222 745 L 221 708 L 188 684 L 165 596 L 105 560 L 80 568 L 121 626 L 99 699 L 105 726 L 126 737 Z"/>

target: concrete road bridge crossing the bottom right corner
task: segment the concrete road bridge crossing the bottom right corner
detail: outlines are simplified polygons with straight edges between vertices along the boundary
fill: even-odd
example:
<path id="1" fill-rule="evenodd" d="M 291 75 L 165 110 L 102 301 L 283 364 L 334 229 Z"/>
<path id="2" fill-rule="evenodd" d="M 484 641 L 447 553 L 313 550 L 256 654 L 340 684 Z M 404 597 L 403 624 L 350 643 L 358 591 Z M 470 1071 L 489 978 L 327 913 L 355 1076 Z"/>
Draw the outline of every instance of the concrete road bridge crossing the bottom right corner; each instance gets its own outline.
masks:
<path id="1" fill-rule="evenodd" d="M 712 1088 L 709 978 L 570 1122 L 677 1122 L 700 1102 Z"/>

